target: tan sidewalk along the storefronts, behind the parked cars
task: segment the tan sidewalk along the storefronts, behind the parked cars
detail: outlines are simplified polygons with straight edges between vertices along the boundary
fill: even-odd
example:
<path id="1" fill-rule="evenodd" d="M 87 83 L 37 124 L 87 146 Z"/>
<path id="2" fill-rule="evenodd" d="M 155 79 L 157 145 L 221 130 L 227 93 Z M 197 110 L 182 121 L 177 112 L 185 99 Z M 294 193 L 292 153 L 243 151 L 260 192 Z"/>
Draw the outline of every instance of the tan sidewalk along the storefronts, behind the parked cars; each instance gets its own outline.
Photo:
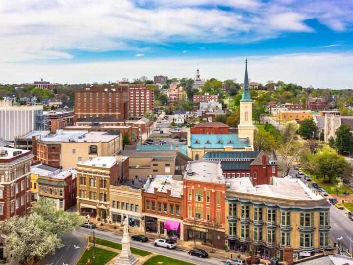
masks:
<path id="1" fill-rule="evenodd" d="M 117 224 L 117 228 L 114 229 L 113 227 L 115 226 L 115 224 L 108 224 L 108 223 L 104 223 L 103 222 L 103 226 L 101 226 L 101 222 L 100 221 L 97 221 L 96 219 L 94 218 L 91 218 L 90 219 L 91 222 L 95 223 L 97 225 L 97 228 L 100 228 L 100 229 L 103 229 L 103 230 L 107 230 L 107 231 L 110 231 L 110 232 L 113 232 L 113 233 L 117 233 L 119 235 L 123 235 L 123 226 L 120 226 L 120 224 Z M 141 231 L 140 229 L 138 228 L 133 228 L 133 227 L 129 227 L 129 234 L 130 236 L 133 236 L 133 235 L 146 235 L 146 237 L 149 238 L 149 241 L 154 241 L 155 239 L 158 238 L 158 235 L 155 234 L 155 233 L 148 233 L 148 232 L 143 232 Z M 161 235 L 161 238 L 163 238 L 164 235 Z M 186 250 L 186 251 L 189 251 L 189 250 L 192 250 L 194 249 L 194 241 L 190 240 L 190 241 L 184 241 L 184 240 L 177 240 L 176 241 L 177 243 L 177 248 L 179 249 L 183 249 L 183 250 Z M 248 258 L 249 256 L 245 256 L 245 255 L 241 255 L 239 253 L 234 253 L 234 252 L 227 252 L 227 251 L 224 251 L 224 250 L 221 250 L 221 249 L 217 249 L 217 248 L 213 248 L 213 253 L 211 253 L 211 247 L 210 246 L 205 246 L 205 245 L 202 245 L 201 242 L 196 242 L 196 248 L 201 248 L 203 249 L 204 251 L 208 252 L 208 255 L 210 257 L 213 257 L 213 258 L 216 258 L 216 259 L 220 259 L 222 261 L 226 261 L 229 258 L 237 258 L 237 257 L 240 257 L 240 258 L 243 258 L 243 259 L 246 259 Z M 267 260 L 260 260 L 262 264 L 270 264 L 269 261 Z"/>

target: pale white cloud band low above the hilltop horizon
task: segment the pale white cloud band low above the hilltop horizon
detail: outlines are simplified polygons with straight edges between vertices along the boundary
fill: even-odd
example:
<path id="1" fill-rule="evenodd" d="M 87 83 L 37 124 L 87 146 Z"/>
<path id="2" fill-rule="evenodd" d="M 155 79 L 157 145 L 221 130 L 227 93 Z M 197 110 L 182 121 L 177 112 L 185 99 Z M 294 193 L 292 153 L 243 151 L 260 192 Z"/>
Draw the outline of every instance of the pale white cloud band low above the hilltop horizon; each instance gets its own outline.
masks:
<path id="1" fill-rule="evenodd" d="M 201 77 L 220 80 L 244 78 L 244 57 L 163 58 L 90 62 L 90 63 L 2 63 L 0 72 L 4 83 L 30 82 L 45 78 L 51 82 L 84 83 L 130 80 L 155 75 L 194 77 L 196 62 Z M 153 67 L 151 67 L 153 65 Z M 303 86 L 352 88 L 353 53 L 295 53 L 248 57 L 249 78 L 265 83 L 267 80 L 295 82 Z M 18 73 L 21 73 L 19 75 Z M 118 73 L 118 74 L 117 74 Z"/>

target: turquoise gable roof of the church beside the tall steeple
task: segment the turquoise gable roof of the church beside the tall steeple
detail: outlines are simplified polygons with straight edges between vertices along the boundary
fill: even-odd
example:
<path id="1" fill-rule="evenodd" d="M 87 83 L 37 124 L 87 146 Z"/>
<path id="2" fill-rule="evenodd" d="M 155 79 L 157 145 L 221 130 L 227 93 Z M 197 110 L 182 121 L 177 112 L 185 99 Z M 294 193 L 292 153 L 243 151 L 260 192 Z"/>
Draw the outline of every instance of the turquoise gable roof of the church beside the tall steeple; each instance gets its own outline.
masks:
<path id="1" fill-rule="evenodd" d="M 209 141 L 210 143 L 206 144 Z M 221 141 L 221 143 L 218 143 Z M 229 143 L 229 142 L 233 143 Z M 197 143 L 199 142 L 199 143 Z M 239 139 L 238 134 L 190 134 L 190 145 L 193 149 L 223 149 L 231 146 L 234 149 L 244 149 L 249 146 L 249 138 Z"/>

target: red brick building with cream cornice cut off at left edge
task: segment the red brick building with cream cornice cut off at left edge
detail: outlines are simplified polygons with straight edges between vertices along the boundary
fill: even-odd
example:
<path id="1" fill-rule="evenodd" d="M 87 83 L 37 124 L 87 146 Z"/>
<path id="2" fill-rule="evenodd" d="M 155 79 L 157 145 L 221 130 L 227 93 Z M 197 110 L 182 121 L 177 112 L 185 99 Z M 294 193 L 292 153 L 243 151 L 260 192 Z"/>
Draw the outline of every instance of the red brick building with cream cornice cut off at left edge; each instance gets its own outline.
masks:
<path id="1" fill-rule="evenodd" d="M 0 148 L 0 220 L 30 212 L 30 151 Z"/>

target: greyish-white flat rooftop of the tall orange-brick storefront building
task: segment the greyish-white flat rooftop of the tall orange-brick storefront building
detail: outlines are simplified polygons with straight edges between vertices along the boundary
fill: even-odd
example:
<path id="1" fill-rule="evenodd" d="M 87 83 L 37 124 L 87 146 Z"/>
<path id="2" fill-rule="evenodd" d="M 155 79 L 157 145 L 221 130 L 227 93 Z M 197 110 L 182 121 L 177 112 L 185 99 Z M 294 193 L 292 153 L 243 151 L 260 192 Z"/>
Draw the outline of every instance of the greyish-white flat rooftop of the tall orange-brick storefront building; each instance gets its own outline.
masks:
<path id="1" fill-rule="evenodd" d="M 225 183 L 221 162 L 219 161 L 189 161 L 184 179 L 212 183 Z"/>

